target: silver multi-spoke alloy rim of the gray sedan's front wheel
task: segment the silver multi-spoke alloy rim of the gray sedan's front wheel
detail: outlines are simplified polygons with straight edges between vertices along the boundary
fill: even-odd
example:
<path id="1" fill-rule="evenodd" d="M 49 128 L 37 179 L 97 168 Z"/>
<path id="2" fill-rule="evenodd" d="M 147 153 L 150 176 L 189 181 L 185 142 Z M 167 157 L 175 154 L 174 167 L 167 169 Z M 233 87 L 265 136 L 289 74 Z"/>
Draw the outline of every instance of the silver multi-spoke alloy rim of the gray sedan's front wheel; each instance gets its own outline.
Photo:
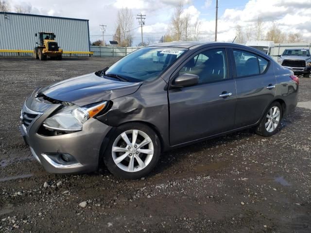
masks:
<path id="1" fill-rule="evenodd" d="M 112 145 L 114 163 L 127 172 L 137 172 L 148 166 L 154 155 L 154 144 L 147 133 L 127 130 Z"/>

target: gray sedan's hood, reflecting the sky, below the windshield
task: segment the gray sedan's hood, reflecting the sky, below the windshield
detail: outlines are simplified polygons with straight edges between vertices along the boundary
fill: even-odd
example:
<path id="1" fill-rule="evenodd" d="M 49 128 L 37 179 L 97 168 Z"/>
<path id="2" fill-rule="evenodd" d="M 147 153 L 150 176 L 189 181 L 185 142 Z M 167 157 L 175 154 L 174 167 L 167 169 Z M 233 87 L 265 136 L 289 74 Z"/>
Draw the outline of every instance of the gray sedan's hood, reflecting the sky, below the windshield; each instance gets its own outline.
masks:
<path id="1" fill-rule="evenodd" d="M 39 92 L 54 100 L 83 106 L 130 95 L 141 84 L 113 81 L 91 73 L 52 84 Z"/>

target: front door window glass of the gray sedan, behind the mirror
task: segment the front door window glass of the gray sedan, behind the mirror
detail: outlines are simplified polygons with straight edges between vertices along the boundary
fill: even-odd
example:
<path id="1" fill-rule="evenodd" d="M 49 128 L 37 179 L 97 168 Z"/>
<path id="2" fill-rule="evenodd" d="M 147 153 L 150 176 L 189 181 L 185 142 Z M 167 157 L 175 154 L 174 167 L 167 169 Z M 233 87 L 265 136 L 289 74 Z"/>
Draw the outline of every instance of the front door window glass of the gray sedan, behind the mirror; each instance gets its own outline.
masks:
<path id="1" fill-rule="evenodd" d="M 226 79 L 227 61 L 225 49 L 200 52 L 179 70 L 179 75 L 185 73 L 198 75 L 199 83 L 209 83 Z"/>

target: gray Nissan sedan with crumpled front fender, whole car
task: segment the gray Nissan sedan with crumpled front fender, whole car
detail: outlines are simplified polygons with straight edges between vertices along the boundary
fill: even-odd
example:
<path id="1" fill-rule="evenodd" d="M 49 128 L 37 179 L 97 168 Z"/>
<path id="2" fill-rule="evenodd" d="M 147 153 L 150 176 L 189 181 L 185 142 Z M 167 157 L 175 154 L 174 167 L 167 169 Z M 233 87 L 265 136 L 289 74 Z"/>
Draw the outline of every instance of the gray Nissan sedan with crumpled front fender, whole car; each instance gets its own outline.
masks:
<path id="1" fill-rule="evenodd" d="M 250 47 L 176 42 L 147 46 L 111 67 L 36 89 L 20 131 L 49 172 L 103 163 L 137 179 L 161 152 L 245 128 L 278 131 L 297 104 L 292 70 Z"/>

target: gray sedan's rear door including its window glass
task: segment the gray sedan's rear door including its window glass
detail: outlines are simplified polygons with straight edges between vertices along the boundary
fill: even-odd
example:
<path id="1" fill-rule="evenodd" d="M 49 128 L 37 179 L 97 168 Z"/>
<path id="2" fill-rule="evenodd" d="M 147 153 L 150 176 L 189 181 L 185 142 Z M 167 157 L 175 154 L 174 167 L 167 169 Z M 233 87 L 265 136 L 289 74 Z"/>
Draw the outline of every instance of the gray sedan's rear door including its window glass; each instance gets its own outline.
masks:
<path id="1" fill-rule="evenodd" d="M 231 50 L 237 85 L 236 128 L 255 124 L 276 95 L 270 61 L 250 50 Z"/>

